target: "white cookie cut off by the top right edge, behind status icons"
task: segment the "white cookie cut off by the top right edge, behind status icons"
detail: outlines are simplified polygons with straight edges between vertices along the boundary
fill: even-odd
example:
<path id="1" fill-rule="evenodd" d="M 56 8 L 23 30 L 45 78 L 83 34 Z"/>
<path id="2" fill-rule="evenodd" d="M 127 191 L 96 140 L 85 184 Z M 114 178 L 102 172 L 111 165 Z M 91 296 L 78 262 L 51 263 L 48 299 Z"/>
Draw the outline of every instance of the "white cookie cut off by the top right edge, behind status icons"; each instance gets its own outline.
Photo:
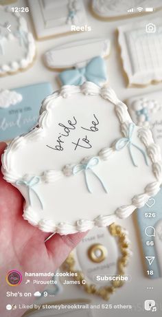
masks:
<path id="1" fill-rule="evenodd" d="M 92 0 L 92 9 L 101 18 L 113 18 L 113 17 L 129 17 L 128 10 L 133 8 L 130 17 L 133 13 L 139 13 L 137 8 L 142 8 L 142 13 L 148 7 L 152 8 L 152 0 Z M 154 10 L 161 7 L 161 0 L 154 0 Z"/>

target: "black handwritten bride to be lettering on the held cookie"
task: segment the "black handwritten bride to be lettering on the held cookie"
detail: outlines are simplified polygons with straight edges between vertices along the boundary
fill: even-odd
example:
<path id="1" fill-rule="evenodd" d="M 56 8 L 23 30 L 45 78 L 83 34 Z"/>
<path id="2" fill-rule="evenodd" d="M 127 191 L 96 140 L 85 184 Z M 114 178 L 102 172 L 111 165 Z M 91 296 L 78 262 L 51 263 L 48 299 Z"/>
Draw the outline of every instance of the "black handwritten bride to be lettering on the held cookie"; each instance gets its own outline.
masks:
<path id="1" fill-rule="evenodd" d="M 90 127 L 80 127 L 80 129 L 82 129 L 84 131 L 90 131 L 90 132 L 98 131 L 97 126 L 99 124 L 99 121 L 98 121 L 97 117 L 95 116 L 95 114 L 93 114 L 93 117 L 94 117 L 94 119 L 92 120 Z M 51 146 L 51 145 L 47 144 L 46 146 L 52 150 L 63 151 L 66 138 L 69 137 L 69 135 L 72 133 L 72 131 L 76 130 L 77 120 L 73 116 L 73 120 L 68 120 L 66 125 L 62 124 L 62 123 L 58 123 L 58 125 L 59 125 L 59 127 L 62 128 L 62 131 L 58 135 L 58 138 L 56 140 L 56 145 Z M 83 138 L 78 138 L 78 140 L 73 141 L 71 143 L 74 144 L 74 151 L 76 151 L 76 149 L 78 147 L 82 147 L 84 149 L 91 149 L 91 147 L 92 147 L 91 141 L 87 138 L 86 134 L 84 135 Z"/>

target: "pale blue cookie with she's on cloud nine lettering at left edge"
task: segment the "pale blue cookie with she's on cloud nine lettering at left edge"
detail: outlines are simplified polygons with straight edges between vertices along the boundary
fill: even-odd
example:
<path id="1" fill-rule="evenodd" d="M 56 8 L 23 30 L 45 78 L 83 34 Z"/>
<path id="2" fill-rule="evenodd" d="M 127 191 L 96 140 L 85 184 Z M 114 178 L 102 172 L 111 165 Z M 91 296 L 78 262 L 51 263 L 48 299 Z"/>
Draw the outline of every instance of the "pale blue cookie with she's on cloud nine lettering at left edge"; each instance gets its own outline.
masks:
<path id="1" fill-rule="evenodd" d="M 53 92 L 50 83 L 10 90 L 21 94 L 23 100 L 8 108 L 0 108 L 0 141 L 29 132 L 36 125 L 42 100 Z"/>

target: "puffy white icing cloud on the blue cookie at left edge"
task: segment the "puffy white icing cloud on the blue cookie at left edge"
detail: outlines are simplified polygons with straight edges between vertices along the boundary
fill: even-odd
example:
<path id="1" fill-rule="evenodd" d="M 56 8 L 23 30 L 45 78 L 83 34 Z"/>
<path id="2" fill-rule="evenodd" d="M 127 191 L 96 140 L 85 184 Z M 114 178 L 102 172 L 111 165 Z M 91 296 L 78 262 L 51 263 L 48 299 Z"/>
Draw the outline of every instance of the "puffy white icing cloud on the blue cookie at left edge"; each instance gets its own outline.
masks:
<path id="1" fill-rule="evenodd" d="M 23 100 L 23 96 L 16 91 L 2 89 L 0 90 L 0 109 L 8 108 L 11 105 L 16 105 Z"/>

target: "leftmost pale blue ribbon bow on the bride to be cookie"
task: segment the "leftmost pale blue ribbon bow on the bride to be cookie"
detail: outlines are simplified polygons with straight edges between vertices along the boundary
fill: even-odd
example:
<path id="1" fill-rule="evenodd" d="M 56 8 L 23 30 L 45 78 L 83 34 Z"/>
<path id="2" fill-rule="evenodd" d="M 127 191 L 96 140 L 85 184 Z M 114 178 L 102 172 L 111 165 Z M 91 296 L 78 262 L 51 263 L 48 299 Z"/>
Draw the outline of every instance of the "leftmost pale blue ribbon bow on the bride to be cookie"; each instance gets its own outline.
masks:
<path id="1" fill-rule="evenodd" d="M 28 188 L 28 199 L 29 199 L 29 204 L 30 206 L 32 206 L 32 192 L 36 195 L 36 197 L 38 198 L 38 201 L 40 203 L 41 209 L 43 209 L 43 203 L 40 199 L 40 197 L 38 196 L 38 193 L 36 193 L 36 190 L 34 189 L 34 186 L 36 186 L 38 183 L 40 182 L 40 177 L 38 176 L 34 176 L 32 177 L 29 181 L 26 181 L 25 179 L 18 179 L 15 184 L 17 186 L 20 185 L 25 185 Z"/>

